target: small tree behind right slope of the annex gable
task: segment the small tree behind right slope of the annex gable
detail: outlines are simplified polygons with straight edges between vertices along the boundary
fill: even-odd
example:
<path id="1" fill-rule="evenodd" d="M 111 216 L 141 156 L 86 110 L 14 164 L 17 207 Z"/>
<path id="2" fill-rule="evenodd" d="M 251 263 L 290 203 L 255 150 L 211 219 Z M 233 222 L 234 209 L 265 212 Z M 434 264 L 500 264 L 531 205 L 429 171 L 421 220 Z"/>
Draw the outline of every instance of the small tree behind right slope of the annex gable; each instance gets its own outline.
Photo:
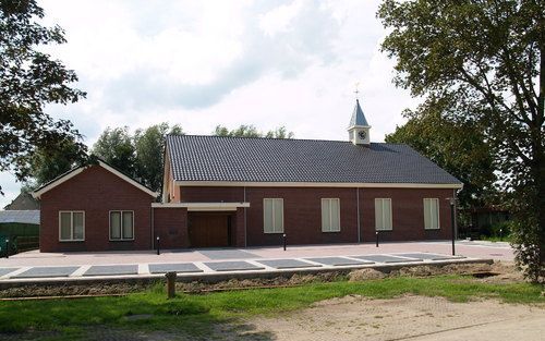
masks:
<path id="1" fill-rule="evenodd" d="M 136 150 L 128 126 L 107 127 L 93 145 L 93 154 L 128 175 L 135 175 Z"/>

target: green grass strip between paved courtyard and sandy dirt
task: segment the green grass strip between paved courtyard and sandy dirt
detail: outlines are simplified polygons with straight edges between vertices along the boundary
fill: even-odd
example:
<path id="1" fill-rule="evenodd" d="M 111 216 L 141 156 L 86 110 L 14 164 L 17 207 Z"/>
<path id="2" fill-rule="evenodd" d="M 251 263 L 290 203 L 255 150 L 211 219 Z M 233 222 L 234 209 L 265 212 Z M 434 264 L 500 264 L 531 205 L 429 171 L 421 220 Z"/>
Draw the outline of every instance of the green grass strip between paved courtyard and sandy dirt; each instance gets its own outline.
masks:
<path id="1" fill-rule="evenodd" d="M 492 284 L 472 278 L 398 277 L 383 280 L 316 282 L 296 288 L 254 289 L 209 294 L 179 294 L 167 300 L 162 285 L 121 297 L 0 302 L 0 333 L 55 331 L 46 339 L 71 340 L 89 328 L 167 330 L 205 337 L 214 326 L 255 315 L 278 315 L 348 294 L 389 299 L 402 294 L 445 296 L 456 302 L 494 297 L 507 303 L 545 303 L 543 287 L 530 283 Z M 131 316 L 149 315 L 144 318 Z M 24 336 L 24 334 L 20 334 Z M 39 336 L 39 333 L 38 333 Z M 2 339 L 2 334 L 0 334 Z"/>

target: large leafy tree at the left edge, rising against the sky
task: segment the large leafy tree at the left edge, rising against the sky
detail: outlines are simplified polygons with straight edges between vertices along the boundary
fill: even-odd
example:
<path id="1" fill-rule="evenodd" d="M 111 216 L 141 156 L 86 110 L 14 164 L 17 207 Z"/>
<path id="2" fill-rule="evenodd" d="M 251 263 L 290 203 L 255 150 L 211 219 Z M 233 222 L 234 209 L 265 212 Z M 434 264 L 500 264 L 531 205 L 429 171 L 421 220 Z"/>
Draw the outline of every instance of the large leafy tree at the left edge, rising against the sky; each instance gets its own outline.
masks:
<path id="1" fill-rule="evenodd" d="M 43 17 L 35 0 L 0 0 L 0 171 L 12 171 L 21 181 L 31 175 L 38 148 L 73 139 L 78 158 L 85 158 L 82 135 L 72 123 L 44 112 L 47 103 L 75 102 L 85 93 L 69 86 L 77 81 L 72 70 L 38 50 L 65 42 L 62 28 L 43 26 Z"/>

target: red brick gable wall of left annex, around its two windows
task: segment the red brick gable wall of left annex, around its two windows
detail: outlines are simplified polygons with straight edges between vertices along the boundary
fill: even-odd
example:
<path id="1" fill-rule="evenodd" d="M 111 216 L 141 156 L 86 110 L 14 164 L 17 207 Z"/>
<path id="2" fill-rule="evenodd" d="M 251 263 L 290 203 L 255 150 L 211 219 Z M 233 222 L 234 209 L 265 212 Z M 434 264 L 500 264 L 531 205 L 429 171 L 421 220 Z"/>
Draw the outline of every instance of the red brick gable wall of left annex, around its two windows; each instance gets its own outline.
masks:
<path id="1" fill-rule="evenodd" d="M 154 198 L 99 166 L 46 192 L 40 200 L 40 251 L 110 251 L 150 248 Z M 85 211 L 85 241 L 59 242 L 59 210 Z M 134 211 L 134 241 L 109 241 L 109 211 Z"/>

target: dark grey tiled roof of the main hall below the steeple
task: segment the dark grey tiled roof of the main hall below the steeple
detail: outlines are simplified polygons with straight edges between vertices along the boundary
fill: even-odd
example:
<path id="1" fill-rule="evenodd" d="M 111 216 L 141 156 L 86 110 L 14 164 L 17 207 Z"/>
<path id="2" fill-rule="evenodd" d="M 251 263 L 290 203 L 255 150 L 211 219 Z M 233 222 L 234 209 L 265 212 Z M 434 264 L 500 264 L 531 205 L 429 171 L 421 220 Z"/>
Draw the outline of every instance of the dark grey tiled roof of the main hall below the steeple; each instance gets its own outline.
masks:
<path id="1" fill-rule="evenodd" d="M 177 181 L 460 184 L 400 144 L 168 136 Z"/>

